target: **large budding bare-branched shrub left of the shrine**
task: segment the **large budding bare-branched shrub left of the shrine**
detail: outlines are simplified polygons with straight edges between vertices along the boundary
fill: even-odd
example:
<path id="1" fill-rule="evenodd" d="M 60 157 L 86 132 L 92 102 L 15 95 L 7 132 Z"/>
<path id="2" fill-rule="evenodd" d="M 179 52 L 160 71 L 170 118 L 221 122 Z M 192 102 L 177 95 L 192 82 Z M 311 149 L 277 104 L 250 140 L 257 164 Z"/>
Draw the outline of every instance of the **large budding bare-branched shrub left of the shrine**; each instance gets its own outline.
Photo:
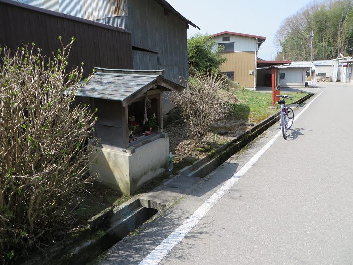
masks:
<path id="1" fill-rule="evenodd" d="M 89 180 L 94 125 L 74 106 L 82 66 L 66 71 L 69 45 L 50 60 L 38 48 L 4 49 L 0 77 L 0 260 L 49 239 L 66 207 Z M 68 90 L 68 88 L 71 88 Z"/>

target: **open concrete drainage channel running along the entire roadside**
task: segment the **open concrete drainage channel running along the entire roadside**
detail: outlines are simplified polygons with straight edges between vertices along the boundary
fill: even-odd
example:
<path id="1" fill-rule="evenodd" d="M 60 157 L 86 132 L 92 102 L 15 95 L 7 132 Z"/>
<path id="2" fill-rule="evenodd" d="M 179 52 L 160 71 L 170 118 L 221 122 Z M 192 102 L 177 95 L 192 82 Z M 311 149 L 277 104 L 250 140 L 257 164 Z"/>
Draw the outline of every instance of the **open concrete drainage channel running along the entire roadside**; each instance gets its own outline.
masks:
<path id="1" fill-rule="evenodd" d="M 308 94 L 293 104 L 301 104 L 312 95 L 313 94 Z M 279 112 L 274 114 L 239 137 L 221 146 L 212 155 L 208 155 L 201 160 L 194 162 L 191 166 L 185 167 L 180 170 L 178 175 L 174 178 L 179 177 L 192 180 L 205 177 L 219 165 L 224 163 L 229 157 L 276 123 L 279 120 L 279 115 Z M 164 182 L 163 185 L 166 186 L 167 183 L 172 182 L 173 179 Z M 188 182 L 187 179 L 185 180 L 186 182 Z M 198 180 L 196 180 L 196 182 L 197 181 Z M 157 187 L 154 191 L 160 189 L 160 187 Z M 153 193 L 153 191 L 151 193 Z M 161 194 L 157 193 L 158 192 L 156 192 L 154 196 L 155 199 L 149 199 L 150 197 L 148 195 L 136 195 L 118 207 L 105 209 L 98 215 L 89 219 L 87 228 L 79 232 L 76 236 L 71 236 L 58 243 L 58 246 L 52 248 L 48 253 L 45 253 L 45 256 L 37 256 L 24 264 L 41 265 L 50 263 L 55 265 L 89 263 L 105 250 L 121 241 L 130 232 L 139 228 L 146 221 L 151 221 L 159 216 L 156 215 L 158 211 L 162 211 L 166 208 L 168 203 L 171 203 L 174 199 L 180 197 L 172 195 L 169 198 L 161 199 Z M 166 193 L 164 193 L 164 196 Z"/>

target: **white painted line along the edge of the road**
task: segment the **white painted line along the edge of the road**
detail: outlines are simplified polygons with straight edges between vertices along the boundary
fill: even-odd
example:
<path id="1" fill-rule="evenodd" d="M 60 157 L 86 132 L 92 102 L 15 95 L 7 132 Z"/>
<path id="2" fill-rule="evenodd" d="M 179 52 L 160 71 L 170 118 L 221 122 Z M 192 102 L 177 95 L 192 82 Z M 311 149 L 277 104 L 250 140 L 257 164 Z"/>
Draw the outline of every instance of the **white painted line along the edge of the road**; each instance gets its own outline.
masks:
<path id="1" fill-rule="evenodd" d="M 306 107 L 295 117 L 295 120 L 321 95 L 318 94 Z M 166 239 L 162 241 L 148 256 L 146 256 L 140 265 L 159 264 L 160 261 L 172 250 L 190 230 L 208 213 L 208 211 L 223 197 L 225 193 L 242 177 L 259 158 L 270 148 L 282 132 L 279 131 L 262 147 L 236 174 L 228 179 L 215 193 L 212 194 L 194 213 L 175 229 Z"/>

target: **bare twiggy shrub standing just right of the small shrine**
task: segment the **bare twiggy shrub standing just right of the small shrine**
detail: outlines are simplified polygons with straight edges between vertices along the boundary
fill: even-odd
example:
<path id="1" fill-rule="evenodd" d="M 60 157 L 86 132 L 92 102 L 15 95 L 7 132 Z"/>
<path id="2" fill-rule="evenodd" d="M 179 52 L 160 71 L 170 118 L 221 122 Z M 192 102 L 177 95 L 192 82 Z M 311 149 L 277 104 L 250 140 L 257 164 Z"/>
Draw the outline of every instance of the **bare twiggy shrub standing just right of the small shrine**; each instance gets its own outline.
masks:
<path id="1" fill-rule="evenodd" d="M 223 76 L 197 73 L 189 78 L 182 93 L 170 94 L 181 109 L 192 143 L 202 143 L 211 126 L 226 117 L 229 106 L 227 92 L 222 89 L 225 84 Z"/>

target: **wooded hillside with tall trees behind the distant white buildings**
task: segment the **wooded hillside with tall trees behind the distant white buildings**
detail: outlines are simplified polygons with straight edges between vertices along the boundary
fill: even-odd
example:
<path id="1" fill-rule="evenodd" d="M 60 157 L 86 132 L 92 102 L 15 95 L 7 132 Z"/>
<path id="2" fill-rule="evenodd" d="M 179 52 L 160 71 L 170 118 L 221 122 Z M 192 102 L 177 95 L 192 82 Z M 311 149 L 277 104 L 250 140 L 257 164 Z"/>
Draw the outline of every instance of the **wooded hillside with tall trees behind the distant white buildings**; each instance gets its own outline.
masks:
<path id="1" fill-rule="evenodd" d="M 314 1 L 286 18 L 277 30 L 276 60 L 331 60 L 353 53 L 353 0 Z"/>

